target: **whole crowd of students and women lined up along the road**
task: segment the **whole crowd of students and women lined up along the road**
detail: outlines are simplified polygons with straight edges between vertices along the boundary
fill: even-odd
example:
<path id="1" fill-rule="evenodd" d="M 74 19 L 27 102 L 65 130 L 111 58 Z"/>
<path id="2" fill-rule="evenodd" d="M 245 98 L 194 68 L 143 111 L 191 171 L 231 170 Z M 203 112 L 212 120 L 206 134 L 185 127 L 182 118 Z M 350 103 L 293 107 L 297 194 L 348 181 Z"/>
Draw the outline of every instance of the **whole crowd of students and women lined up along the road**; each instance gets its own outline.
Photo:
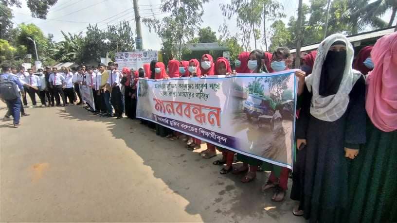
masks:
<path id="1" fill-rule="evenodd" d="M 41 106 L 84 105 L 79 86 L 92 89 L 94 106 L 86 108 L 95 115 L 136 118 L 138 78 L 166 79 L 207 75 L 272 73 L 290 69 L 289 49 L 274 52 L 241 52 L 234 61 L 235 70 L 223 57 L 214 61 L 204 54 L 201 61 L 152 61 L 137 70 L 109 62 L 108 67 L 81 65 L 77 68 L 32 69 L 3 66 L 1 80 L 18 86 L 18 97 L 5 100 L 14 117 L 27 105 L 26 93 L 33 106 L 36 94 Z M 317 51 L 307 53 L 301 69 L 296 108 L 296 156 L 292 172 L 291 199 L 299 202 L 292 211 L 310 222 L 393 222 L 397 221 L 397 33 L 383 36 L 374 46 L 366 46 L 355 56 L 352 44 L 342 34 L 328 36 Z M 3 89 L 3 88 L 1 88 Z M 0 92 L 2 93 L 2 92 Z M 62 104 L 60 102 L 62 100 Z M 68 101 L 69 100 L 69 101 Z M 55 103 L 54 103 L 55 102 Z M 114 110 L 114 112 L 113 112 Z M 157 123 L 141 120 L 158 135 L 169 140 L 183 140 L 186 148 L 199 149 L 201 140 Z M 258 170 L 270 171 L 261 190 L 272 189 L 271 200 L 282 202 L 288 190 L 290 170 L 256 158 L 236 154 L 206 143 L 201 152 L 205 159 L 222 153 L 214 165 L 220 174 L 243 174 L 249 183 Z M 235 163 L 236 160 L 242 165 Z"/>

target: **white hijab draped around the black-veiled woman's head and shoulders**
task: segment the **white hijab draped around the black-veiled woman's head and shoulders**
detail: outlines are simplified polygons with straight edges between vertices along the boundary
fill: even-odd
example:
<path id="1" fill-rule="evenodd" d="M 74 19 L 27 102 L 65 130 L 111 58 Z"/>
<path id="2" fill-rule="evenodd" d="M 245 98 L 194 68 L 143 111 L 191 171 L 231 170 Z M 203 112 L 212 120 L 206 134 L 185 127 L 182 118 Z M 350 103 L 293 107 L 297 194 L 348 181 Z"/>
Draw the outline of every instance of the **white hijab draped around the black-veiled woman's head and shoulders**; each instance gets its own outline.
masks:
<path id="1" fill-rule="evenodd" d="M 323 97 L 319 94 L 321 69 L 329 48 L 336 41 L 346 43 L 346 65 L 343 78 L 336 94 Z M 320 43 L 313 72 L 305 79 L 308 90 L 313 93 L 310 106 L 312 116 L 324 121 L 335 121 L 343 116 L 349 104 L 349 93 L 361 75 L 360 71 L 352 69 L 353 57 L 353 46 L 343 34 L 332 34 Z"/>

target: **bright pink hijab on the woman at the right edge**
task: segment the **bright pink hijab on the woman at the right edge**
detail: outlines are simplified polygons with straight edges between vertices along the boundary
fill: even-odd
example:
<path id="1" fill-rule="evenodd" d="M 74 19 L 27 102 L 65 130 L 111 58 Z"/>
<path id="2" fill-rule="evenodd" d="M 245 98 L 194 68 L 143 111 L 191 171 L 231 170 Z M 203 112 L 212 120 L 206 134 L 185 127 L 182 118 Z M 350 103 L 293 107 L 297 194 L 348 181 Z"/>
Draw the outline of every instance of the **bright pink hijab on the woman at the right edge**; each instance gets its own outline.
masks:
<path id="1" fill-rule="evenodd" d="M 371 51 L 374 69 L 367 76 L 365 109 L 384 132 L 397 130 L 397 32 L 378 39 Z"/>

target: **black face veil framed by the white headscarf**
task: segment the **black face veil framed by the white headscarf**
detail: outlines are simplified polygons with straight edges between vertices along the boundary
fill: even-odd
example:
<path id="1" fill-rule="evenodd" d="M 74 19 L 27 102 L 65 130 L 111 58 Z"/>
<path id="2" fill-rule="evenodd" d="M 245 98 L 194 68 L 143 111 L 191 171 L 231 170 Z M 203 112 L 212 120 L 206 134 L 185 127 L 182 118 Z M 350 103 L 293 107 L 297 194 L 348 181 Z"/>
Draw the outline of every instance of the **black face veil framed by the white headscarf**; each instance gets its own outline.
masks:
<path id="1" fill-rule="evenodd" d="M 344 45 L 343 41 L 336 41 L 333 45 Z M 346 66 L 346 51 L 328 51 L 321 69 L 319 94 L 323 97 L 336 94 L 343 78 Z"/>

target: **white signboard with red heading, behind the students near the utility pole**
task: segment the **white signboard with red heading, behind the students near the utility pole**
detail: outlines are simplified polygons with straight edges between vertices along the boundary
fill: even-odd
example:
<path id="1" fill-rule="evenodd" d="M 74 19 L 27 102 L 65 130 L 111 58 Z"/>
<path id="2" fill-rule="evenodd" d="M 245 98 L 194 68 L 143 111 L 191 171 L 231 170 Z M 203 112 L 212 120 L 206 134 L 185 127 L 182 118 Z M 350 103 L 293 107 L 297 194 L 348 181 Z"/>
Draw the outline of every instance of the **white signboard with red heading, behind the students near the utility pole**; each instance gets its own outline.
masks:
<path id="1" fill-rule="evenodd" d="M 115 55 L 115 61 L 119 64 L 120 70 L 124 67 L 138 70 L 152 60 L 158 60 L 157 51 L 116 52 Z"/>

